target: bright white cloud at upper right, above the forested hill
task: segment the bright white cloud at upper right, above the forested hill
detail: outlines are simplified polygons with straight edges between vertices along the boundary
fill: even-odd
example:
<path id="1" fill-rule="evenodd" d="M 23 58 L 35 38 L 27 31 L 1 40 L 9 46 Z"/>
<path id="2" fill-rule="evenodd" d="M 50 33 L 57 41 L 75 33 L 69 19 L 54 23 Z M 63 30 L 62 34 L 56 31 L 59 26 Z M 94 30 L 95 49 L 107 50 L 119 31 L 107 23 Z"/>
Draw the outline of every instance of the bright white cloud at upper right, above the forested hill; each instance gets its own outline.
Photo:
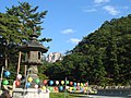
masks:
<path id="1" fill-rule="evenodd" d="M 111 5 L 105 5 L 103 9 L 106 10 L 111 15 L 117 15 L 120 13 L 117 9 L 115 9 Z"/>

